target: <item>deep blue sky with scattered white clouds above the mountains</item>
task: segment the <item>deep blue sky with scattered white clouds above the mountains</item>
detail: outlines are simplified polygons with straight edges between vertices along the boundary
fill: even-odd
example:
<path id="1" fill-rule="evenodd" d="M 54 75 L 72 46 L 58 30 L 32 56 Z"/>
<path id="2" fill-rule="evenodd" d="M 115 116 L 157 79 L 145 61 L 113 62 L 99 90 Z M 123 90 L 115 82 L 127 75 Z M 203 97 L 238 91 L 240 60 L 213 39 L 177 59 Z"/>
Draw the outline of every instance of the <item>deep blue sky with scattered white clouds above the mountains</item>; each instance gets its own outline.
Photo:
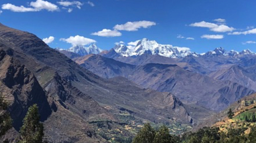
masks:
<path id="1" fill-rule="evenodd" d="M 255 0 L 1 0 L 0 5 L 2 24 L 42 39 L 52 36 L 51 47 L 97 42 L 109 50 L 115 42 L 148 38 L 197 53 L 220 46 L 256 51 Z"/>

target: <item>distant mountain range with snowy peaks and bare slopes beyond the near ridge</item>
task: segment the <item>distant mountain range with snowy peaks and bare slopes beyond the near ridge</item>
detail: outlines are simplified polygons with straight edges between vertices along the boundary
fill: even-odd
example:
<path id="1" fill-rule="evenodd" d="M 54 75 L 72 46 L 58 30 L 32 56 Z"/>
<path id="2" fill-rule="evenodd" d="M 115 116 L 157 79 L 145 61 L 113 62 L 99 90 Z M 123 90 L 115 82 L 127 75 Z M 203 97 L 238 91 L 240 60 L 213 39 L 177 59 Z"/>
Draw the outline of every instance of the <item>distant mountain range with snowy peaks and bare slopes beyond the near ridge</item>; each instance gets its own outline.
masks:
<path id="1" fill-rule="evenodd" d="M 146 38 L 135 43 L 72 59 L 101 77 L 123 76 L 143 88 L 171 92 L 184 103 L 215 111 L 255 92 L 256 54 L 249 49 L 238 52 L 217 47 L 197 54 L 186 47 L 162 45 Z"/>

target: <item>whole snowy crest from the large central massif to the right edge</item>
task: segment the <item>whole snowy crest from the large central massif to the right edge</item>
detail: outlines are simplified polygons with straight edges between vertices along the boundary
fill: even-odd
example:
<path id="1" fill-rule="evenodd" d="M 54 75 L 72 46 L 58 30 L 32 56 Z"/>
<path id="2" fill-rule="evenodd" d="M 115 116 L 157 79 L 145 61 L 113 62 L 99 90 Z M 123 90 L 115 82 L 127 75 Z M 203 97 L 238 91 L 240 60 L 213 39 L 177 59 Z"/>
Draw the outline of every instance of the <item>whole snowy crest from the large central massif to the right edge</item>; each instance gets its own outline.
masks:
<path id="1" fill-rule="evenodd" d="M 161 55 L 163 57 L 169 58 L 184 58 L 187 56 L 200 57 L 200 56 L 243 56 L 243 55 L 256 55 L 254 52 L 249 49 L 242 50 L 241 52 L 231 50 L 226 51 L 222 47 L 217 47 L 213 51 L 208 51 L 207 53 L 197 54 L 192 52 L 188 47 L 178 47 L 172 45 L 163 45 L 158 44 L 156 41 L 150 41 L 147 38 L 138 40 L 135 46 L 126 46 L 123 44 L 116 45 L 114 48 L 116 53 L 122 55 L 123 57 L 138 56 L 142 54 L 152 54 L 152 55 Z"/>

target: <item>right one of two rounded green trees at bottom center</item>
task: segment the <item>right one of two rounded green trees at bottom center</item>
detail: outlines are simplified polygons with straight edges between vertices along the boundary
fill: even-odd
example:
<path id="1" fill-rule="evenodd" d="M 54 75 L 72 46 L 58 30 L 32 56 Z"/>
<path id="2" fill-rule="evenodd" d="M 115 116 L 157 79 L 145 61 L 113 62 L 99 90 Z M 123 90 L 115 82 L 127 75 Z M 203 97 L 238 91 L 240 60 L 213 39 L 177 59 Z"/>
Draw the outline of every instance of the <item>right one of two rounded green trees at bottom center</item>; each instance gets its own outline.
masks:
<path id="1" fill-rule="evenodd" d="M 153 143 L 175 143 L 175 138 L 169 133 L 166 125 L 162 125 L 155 134 Z"/>

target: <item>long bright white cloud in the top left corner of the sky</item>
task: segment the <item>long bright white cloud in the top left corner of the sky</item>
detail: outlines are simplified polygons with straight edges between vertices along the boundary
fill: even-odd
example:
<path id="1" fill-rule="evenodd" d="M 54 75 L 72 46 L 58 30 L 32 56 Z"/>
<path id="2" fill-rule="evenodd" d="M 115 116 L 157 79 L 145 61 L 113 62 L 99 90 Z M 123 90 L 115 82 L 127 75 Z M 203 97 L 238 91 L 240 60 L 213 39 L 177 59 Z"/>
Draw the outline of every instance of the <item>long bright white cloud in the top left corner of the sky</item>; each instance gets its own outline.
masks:
<path id="1" fill-rule="evenodd" d="M 56 11 L 59 10 L 59 7 L 54 5 L 53 3 L 43 1 L 43 0 L 36 0 L 35 2 L 30 2 L 31 7 L 24 7 L 24 6 L 15 6 L 11 3 L 6 3 L 2 5 L 3 10 L 11 10 L 13 12 L 31 12 L 31 11 Z"/>

